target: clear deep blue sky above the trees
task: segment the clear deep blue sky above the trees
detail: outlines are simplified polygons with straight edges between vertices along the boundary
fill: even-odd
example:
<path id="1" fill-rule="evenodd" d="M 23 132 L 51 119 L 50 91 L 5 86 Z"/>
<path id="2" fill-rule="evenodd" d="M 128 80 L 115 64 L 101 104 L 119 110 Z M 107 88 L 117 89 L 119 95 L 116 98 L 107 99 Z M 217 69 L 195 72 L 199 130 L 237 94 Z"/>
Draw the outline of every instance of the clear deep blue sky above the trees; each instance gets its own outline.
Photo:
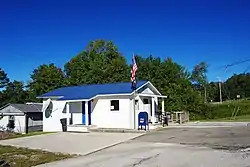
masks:
<path id="1" fill-rule="evenodd" d="M 8 0 L 0 2 L 0 67 L 28 81 L 43 63 L 59 67 L 90 40 L 132 53 L 172 57 L 188 69 L 206 61 L 209 80 L 226 79 L 250 58 L 249 0 Z M 139 67 L 140 68 L 140 67 Z"/>

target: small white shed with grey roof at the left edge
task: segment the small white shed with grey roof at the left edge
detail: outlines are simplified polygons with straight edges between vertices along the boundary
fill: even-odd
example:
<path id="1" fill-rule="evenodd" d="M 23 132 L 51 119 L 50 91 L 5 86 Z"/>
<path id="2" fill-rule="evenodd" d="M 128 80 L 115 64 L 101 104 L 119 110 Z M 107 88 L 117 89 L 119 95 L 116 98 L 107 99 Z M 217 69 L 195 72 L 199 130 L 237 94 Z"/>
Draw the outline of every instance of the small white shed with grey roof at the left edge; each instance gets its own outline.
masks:
<path id="1" fill-rule="evenodd" d="M 6 128 L 10 120 L 15 123 L 15 128 L 13 129 L 15 132 L 42 131 L 42 104 L 7 104 L 0 108 L 0 126 Z"/>

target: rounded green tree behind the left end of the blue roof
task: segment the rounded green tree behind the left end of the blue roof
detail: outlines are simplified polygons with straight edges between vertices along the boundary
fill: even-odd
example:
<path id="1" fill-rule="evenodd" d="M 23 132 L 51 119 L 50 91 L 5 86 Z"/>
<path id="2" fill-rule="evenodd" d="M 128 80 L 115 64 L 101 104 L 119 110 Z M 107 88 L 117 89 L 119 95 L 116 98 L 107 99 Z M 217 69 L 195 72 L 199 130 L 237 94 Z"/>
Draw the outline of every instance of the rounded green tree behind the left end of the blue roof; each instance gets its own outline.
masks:
<path id="1" fill-rule="evenodd" d="M 40 65 L 31 74 L 31 81 L 28 84 L 28 99 L 38 101 L 36 97 L 56 88 L 65 86 L 65 74 L 54 64 Z"/>

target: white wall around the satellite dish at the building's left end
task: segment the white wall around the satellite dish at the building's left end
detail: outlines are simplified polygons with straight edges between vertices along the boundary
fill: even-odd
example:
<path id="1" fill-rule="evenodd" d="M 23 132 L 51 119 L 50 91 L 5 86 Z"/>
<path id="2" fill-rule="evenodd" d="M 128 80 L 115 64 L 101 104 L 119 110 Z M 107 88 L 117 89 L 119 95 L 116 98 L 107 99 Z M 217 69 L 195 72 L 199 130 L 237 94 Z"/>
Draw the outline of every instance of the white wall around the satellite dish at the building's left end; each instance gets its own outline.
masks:
<path id="1" fill-rule="evenodd" d="M 45 102 L 45 101 L 43 101 Z M 65 103 L 64 101 L 52 100 L 53 110 Z M 62 131 L 62 125 L 60 122 L 61 118 L 69 118 L 69 115 L 66 113 L 66 105 L 64 111 L 55 110 L 51 113 L 49 118 L 45 117 L 45 112 L 43 113 L 43 131 L 44 132 L 60 132 Z M 67 119 L 69 123 L 69 119 Z"/>

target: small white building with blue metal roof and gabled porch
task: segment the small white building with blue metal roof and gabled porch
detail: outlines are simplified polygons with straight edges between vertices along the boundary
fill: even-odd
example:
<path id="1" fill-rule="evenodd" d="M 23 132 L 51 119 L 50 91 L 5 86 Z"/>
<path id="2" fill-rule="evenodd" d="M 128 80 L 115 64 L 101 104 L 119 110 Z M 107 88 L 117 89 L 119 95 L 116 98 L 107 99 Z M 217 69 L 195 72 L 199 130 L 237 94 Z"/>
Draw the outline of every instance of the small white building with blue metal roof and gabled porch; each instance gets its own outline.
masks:
<path id="1" fill-rule="evenodd" d="M 134 100 L 135 95 L 135 100 Z M 146 111 L 149 122 L 158 122 L 158 102 L 166 96 L 148 81 L 63 87 L 39 96 L 43 99 L 43 131 L 62 131 L 60 119 L 71 125 L 97 128 L 138 128 L 138 113 Z M 164 111 L 164 107 L 161 109 Z"/>

